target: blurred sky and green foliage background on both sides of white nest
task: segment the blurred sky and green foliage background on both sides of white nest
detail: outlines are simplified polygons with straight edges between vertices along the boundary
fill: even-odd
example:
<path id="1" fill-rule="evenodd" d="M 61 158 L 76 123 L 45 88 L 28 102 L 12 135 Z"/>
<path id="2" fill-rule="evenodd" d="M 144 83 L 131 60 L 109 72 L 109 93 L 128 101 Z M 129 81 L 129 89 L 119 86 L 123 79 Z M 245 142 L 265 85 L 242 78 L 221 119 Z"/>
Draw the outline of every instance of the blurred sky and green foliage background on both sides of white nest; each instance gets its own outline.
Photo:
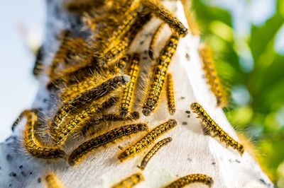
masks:
<path id="1" fill-rule="evenodd" d="M 284 0 L 194 0 L 231 102 L 225 112 L 284 187 Z M 45 26 L 44 0 L 0 0 L 0 142 L 38 90 L 31 72 Z"/>

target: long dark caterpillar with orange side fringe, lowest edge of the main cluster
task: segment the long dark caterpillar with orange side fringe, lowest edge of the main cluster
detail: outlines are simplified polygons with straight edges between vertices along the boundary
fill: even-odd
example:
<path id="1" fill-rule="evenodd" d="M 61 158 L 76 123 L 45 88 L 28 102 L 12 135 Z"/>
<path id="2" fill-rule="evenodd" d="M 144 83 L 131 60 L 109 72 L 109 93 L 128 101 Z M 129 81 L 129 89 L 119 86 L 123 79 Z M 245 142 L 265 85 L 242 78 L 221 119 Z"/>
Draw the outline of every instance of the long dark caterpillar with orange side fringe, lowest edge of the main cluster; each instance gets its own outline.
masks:
<path id="1" fill-rule="evenodd" d="M 87 154 L 93 151 L 95 148 L 100 146 L 104 146 L 107 143 L 114 141 L 116 139 L 121 138 L 122 136 L 127 136 L 130 134 L 135 134 L 138 131 L 146 131 L 146 124 L 129 124 L 123 127 L 118 127 L 116 129 L 112 129 L 105 134 L 95 137 L 94 139 L 90 139 L 82 143 L 78 148 L 76 148 L 70 154 L 68 158 L 69 165 L 75 165 L 79 163 L 82 158 L 85 158 Z"/>

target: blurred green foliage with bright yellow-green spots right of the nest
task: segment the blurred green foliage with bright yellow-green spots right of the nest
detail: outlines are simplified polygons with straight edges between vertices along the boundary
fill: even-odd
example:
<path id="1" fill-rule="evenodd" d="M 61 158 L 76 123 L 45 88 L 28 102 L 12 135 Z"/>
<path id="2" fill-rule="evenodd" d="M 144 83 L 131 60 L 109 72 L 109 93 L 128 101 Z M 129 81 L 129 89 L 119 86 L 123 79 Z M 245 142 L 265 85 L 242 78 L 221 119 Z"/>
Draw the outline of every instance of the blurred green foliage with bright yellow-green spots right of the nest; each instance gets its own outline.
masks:
<path id="1" fill-rule="evenodd" d="M 252 24 L 242 38 L 230 12 L 192 2 L 202 40 L 212 47 L 219 76 L 231 88 L 225 112 L 236 130 L 256 144 L 258 160 L 273 182 L 284 187 L 284 55 L 275 50 L 276 34 L 284 26 L 284 0 L 276 1 L 266 23 Z"/>

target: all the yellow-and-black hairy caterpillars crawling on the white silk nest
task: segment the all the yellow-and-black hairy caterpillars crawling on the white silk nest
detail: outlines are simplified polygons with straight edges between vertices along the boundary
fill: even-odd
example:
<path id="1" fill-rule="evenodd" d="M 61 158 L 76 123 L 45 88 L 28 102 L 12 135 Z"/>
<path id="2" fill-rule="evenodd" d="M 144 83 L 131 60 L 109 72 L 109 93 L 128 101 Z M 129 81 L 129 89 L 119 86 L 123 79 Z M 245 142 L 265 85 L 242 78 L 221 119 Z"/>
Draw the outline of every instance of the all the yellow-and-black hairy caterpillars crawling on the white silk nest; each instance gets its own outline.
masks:
<path id="1" fill-rule="evenodd" d="M 25 110 L 13 124 L 12 130 L 16 129 L 16 124 L 23 117 L 26 117 L 23 136 L 26 151 L 35 158 L 64 158 L 70 166 L 79 164 L 97 148 L 146 131 L 142 139 L 135 141 L 118 154 L 117 158 L 122 162 L 146 150 L 160 136 L 178 126 L 175 119 L 168 119 L 151 131 L 143 122 L 127 123 L 138 121 L 140 117 L 140 113 L 133 109 L 136 105 L 134 101 L 141 67 L 141 54 L 129 54 L 128 49 L 136 35 L 153 16 L 163 20 L 155 30 L 148 47 L 149 57 L 155 61 L 155 64 L 151 68 L 141 112 L 144 116 L 151 115 L 157 109 L 161 93 L 165 90 L 168 113 L 174 115 L 176 109 L 174 76 L 168 73 L 168 66 L 175 55 L 180 37 L 187 35 L 187 28 L 158 0 L 86 0 L 81 3 L 72 1 L 70 4 L 65 4 L 65 7 L 75 13 L 84 12 L 84 21 L 87 28 L 92 31 L 92 35 L 82 38 L 73 35 L 70 30 L 61 33 L 58 52 L 45 71 L 50 78 L 48 89 L 50 93 L 56 93 L 59 99 L 58 109 L 53 117 L 45 121 L 39 121 L 40 110 Z M 155 58 L 155 42 L 165 24 L 168 24 L 172 34 L 161 51 L 156 53 L 158 57 Z M 112 26 L 106 27 L 106 25 Z M 40 49 L 39 59 L 35 65 L 35 74 L 43 70 L 42 65 L 40 69 L 37 67 L 42 61 L 42 50 Z M 217 97 L 217 105 L 222 105 L 224 104 L 222 88 L 219 87 L 219 78 L 208 54 L 207 49 L 200 47 L 208 82 Z M 226 134 L 201 105 L 195 102 L 191 107 L 199 115 L 204 127 L 214 134 L 213 136 L 219 137 L 227 146 L 233 147 L 239 153 L 244 153 L 243 146 Z M 110 110 L 116 112 L 109 113 Z M 111 122 L 121 122 L 124 125 L 105 130 L 105 125 Z M 36 129 L 43 125 L 48 129 L 50 141 L 38 139 Z M 98 129 L 104 133 L 97 134 Z M 81 143 L 68 155 L 64 150 L 66 143 L 78 134 L 83 135 L 84 139 L 87 137 L 87 141 Z M 155 143 L 138 168 L 144 170 L 153 155 L 173 139 L 167 137 Z M 138 172 L 114 184 L 113 187 L 133 187 L 143 180 L 143 174 Z M 45 181 L 48 187 L 61 187 L 53 173 L 47 175 Z M 176 180 L 167 187 L 184 187 L 195 182 L 208 186 L 213 184 L 212 177 L 192 174 Z"/>

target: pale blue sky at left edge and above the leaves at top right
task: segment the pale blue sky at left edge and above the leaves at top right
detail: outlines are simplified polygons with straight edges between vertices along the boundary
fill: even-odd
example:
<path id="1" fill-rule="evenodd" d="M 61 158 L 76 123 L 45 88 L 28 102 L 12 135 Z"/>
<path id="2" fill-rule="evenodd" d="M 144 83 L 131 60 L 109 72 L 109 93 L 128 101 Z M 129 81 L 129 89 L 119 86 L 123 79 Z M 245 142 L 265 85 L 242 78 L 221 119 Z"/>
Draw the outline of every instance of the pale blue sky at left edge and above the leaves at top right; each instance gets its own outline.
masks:
<path id="1" fill-rule="evenodd" d="M 249 23 L 261 25 L 275 10 L 275 0 L 251 0 L 249 6 L 246 0 L 208 1 L 233 13 L 239 35 L 249 32 Z M 45 0 L 0 0 L 0 4 L 1 142 L 11 134 L 18 114 L 31 108 L 38 90 L 31 74 L 35 59 L 31 48 L 38 47 L 44 35 Z"/>

